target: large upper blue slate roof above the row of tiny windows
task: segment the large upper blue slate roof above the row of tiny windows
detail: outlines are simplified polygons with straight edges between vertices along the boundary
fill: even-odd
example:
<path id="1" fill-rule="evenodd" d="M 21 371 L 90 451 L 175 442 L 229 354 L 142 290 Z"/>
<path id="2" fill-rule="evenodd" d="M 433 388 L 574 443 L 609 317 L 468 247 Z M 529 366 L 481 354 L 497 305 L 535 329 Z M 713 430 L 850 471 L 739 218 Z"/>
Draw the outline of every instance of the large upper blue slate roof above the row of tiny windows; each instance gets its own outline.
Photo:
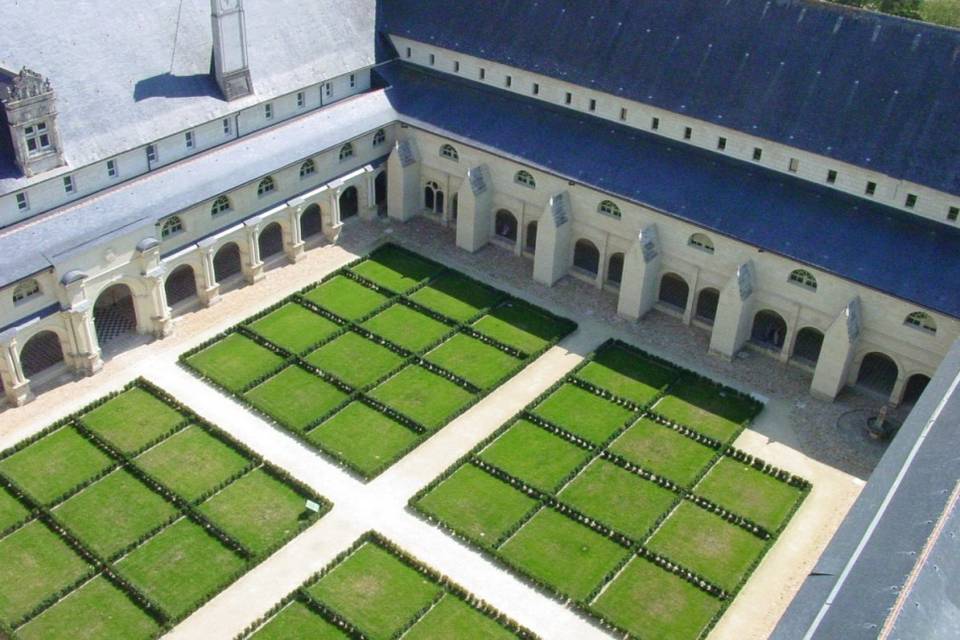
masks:
<path id="1" fill-rule="evenodd" d="M 808 0 L 390 0 L 378 29 L 960 195 L 960 31 Z"/>

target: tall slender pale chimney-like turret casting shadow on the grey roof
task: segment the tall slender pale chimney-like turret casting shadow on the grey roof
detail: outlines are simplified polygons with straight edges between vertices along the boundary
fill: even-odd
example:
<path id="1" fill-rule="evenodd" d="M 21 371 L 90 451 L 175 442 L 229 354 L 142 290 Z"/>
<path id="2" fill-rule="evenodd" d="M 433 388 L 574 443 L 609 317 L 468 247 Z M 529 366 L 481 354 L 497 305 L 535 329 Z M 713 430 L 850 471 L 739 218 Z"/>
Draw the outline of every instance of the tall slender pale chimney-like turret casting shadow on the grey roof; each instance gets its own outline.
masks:
<path id="1" fill-rule="evenodd" d="M 210 0 L 213 22 L 213 71 L 227 100 L 253 93 L 247 61 L 243 0 Z"/>

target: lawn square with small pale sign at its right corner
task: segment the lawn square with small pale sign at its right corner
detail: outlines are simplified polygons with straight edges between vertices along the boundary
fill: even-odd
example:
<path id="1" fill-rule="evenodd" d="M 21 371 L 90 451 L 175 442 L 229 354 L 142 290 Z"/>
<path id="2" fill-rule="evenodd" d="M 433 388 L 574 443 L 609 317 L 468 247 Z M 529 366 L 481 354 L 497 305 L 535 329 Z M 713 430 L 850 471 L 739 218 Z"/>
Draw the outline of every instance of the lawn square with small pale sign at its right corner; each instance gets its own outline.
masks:
<path id="1" fill-rule="evenodd" d="M 306 498 L 254 469 L 200 505 L 200 511 L 257 555 L 300 531 Z"/>

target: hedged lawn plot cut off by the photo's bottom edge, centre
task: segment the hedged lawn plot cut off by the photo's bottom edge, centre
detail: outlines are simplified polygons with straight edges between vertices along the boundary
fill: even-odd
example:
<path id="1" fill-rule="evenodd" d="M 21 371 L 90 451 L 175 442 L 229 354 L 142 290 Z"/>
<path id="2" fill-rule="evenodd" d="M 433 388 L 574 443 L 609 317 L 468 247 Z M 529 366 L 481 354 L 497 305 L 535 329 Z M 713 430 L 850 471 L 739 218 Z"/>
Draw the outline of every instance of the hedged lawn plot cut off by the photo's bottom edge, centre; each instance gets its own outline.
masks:
<path id="1" fill-rule="evenodd" d="M 496 609 L 367 532 L 238 640 L 535 640 Z"/>

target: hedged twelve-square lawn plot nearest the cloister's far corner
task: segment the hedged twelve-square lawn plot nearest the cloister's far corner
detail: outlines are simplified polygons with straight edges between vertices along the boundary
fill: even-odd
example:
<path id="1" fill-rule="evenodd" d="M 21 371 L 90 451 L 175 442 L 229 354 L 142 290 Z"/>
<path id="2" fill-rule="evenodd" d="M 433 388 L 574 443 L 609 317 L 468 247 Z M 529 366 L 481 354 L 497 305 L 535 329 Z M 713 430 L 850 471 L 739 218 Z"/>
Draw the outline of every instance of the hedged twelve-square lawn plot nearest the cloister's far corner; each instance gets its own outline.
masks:
<path id="1" fill-rule="evenodd" d="M 387 244 L 181 362 L 370 479 L 575 328 Z"/>

